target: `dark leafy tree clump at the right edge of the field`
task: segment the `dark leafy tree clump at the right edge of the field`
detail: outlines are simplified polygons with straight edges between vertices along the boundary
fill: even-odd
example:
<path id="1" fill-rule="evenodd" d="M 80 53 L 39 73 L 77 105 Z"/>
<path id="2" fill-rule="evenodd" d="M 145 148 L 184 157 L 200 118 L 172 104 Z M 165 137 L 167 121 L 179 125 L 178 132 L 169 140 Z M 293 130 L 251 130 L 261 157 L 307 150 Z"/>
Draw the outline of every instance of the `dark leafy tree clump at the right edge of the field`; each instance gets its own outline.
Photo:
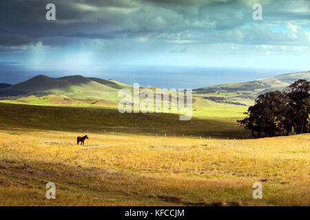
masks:
<path id="1" fill-rule="evenodd" d="M 271 91 L 258 96 L 254 106 L 245 112 L 247 117 L 238 120 L 252 135 L 306 133 L 310 131 L 310 83 L 297 80 L 284 92 Z"/>

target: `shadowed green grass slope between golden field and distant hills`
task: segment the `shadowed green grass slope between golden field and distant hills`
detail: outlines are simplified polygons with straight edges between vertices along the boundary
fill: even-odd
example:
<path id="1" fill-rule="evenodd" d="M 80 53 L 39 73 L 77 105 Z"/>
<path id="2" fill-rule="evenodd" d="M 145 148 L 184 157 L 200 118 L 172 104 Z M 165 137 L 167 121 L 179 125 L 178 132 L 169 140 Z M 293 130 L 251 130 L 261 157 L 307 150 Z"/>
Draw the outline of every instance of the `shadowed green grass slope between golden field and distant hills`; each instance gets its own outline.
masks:
<path id="1" fill-rule="evenodd" d="M 73 105 L 75 106 L 75 105 Z M 76 105 L 78 106 L 78 105 Z M 195 111 L 196 110 L 196 111 Z M 248 132 L 237 124 L 244 108 L 194 109 L 192 120 L 180 121 L 172 113 L 124 113 L 105 107 L 50 107 L 0 102 L 0 122 L 4 127 L 80 130 L 121 133 L 193 134 L 195 137 L 246 138 Z"/>

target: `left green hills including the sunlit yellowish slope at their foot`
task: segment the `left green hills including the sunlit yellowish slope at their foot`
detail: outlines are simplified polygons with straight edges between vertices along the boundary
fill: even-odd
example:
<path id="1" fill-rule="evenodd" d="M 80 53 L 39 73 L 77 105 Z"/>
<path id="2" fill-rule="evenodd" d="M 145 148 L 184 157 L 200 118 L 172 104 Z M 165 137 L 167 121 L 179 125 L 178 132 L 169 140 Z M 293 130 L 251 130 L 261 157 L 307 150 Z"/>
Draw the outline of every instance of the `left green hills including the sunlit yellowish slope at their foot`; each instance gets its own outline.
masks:
<path id="1" fill-rule="evenodd" d="M 27 104 L 98 104 L 116 105 L 123 97 L 118 97 L 120 89 L 129 89 L 133 92 L 132 85 L 126 85 L 115 80 L 101 78 L 85 78 L 83 76 L 65 76 L 50 78 L 39 75 L 23 83 L 10 85 L 0 89 L 0 96 L 12 98 L 16 102 Z M 140 90 L 144 89 L 141 87 Z M 156 94 L 156 87 L 152 89 Z M 142 98 L 141 98 L 142 100 Z"/>

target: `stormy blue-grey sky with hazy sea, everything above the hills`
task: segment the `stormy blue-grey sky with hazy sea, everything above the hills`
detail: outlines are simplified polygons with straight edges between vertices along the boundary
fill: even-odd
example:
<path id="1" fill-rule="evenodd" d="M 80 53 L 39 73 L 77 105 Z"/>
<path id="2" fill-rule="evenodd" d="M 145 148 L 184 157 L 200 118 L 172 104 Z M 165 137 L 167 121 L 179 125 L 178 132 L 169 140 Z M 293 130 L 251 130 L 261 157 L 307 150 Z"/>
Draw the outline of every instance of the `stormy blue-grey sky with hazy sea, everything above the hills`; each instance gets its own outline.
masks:
<path id="1" fill-rule="evenodd" d="M 310 1 L 0 1 L 0 83 L 81 74 L 171 87 L 169 75 L 198 86 L 308 70 Z"/>

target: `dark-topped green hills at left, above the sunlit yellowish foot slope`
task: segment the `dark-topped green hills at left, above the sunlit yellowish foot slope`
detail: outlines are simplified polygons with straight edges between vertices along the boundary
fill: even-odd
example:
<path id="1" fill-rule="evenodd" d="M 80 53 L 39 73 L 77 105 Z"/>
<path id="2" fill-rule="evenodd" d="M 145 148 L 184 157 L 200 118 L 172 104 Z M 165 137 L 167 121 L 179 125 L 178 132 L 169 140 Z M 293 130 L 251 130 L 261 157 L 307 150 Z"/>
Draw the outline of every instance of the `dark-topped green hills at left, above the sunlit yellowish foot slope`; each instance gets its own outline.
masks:
<path id="1" fill-rule="evenodd" d="M 61 78 L 39 75 L 23 83 L 0 89 L 0 96 L 54 94 L 75 99 L 107 99 L 116 101 L 120 99 L 117 96 L 118 90 L 123 87 L 130 88 L 131 86 L 112 80 L 86 78 L 79 75 Z"/>

